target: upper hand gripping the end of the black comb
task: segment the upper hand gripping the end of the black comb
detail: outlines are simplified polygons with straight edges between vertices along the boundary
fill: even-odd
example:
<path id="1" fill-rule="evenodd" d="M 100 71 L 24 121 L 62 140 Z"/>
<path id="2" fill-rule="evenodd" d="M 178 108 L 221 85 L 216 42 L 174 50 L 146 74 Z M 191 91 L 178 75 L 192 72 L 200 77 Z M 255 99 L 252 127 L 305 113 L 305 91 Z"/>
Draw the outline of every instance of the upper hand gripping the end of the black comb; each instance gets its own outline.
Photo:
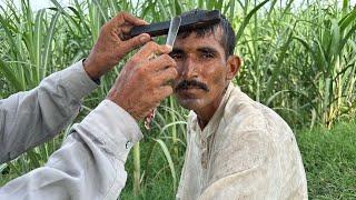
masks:
<path id="1" fill-rule="evenodd" d="M 142 24 L 147 22 L 129 13 L 120 12 L 101 27 L 99 38 L 83 62 L 85 70 L 91 79 L 100 78 L 128 52 L 150 40 L 147 33 L 125 40 L 134 26 Z"/>

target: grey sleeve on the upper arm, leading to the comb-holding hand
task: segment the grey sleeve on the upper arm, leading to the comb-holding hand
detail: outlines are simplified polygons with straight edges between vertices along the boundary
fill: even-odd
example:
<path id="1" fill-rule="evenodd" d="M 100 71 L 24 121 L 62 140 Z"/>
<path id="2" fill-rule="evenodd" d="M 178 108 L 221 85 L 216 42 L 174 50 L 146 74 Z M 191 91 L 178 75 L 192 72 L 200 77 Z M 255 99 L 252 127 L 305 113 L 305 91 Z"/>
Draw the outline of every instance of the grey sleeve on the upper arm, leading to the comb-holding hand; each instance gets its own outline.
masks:
<path id="1" fill-rule="evenodd" d="M 0 100 L 0 163 L 59 133 L 97 87 L 79 61 L 30 91 Z"/>

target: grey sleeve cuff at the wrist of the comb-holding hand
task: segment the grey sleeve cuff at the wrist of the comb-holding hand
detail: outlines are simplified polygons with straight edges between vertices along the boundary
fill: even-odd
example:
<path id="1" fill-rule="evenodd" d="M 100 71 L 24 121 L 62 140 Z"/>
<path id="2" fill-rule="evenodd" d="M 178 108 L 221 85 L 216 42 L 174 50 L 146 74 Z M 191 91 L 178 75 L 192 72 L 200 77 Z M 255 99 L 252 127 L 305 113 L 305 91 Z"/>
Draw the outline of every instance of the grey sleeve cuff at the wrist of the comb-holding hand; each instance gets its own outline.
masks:
<path id="1" fill-rule="evenodd" d="M 65 69 L 60 80 L 76 99 L 82 99 L 99 86 L 86 72 L 82 60 Z"/>

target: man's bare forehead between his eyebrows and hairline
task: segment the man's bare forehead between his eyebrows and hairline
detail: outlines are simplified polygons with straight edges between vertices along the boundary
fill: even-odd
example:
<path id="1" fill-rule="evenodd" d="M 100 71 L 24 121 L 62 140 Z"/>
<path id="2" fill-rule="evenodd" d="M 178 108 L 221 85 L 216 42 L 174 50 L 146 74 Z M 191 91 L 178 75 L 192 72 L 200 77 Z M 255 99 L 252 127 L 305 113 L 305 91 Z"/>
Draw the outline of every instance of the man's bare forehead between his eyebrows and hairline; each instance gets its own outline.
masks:
<path id="1" fill-rule="evenodd" d="M 224 47 L 221 44 L 222 31 L 220 28 L 214 29 L 211 32 L 207 32 L 204 36 L 199 36 L 197 32 L 190 34 L 178 34 L 175 49 L 184 51 L 194 51 L 201 47 L 209 47 L 217 50 L 219 53 L 225 54 Z"/>

